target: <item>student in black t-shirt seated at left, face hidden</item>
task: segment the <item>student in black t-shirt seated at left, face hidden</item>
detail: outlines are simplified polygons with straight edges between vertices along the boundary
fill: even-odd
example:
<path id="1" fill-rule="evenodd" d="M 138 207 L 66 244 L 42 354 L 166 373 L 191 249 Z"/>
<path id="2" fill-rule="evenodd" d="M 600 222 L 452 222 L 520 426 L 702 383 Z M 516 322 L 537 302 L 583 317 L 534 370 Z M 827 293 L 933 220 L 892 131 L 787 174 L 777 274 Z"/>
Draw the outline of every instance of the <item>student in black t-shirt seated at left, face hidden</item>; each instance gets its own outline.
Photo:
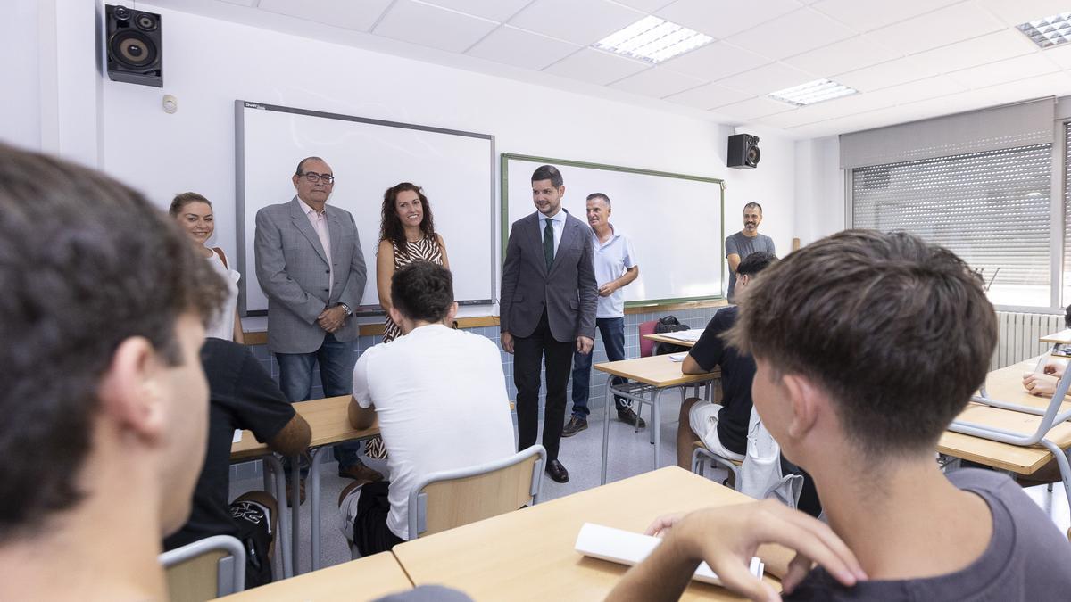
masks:
<path id="1" fill-rule="evenodd" d="M 276 505 L 261 491 L 227 503 L 235 431 L 252 431 L 258 441 L 267 441 L 272 451 L 286 456 L 304 452 L 311 432 L 244 345 L 208 338 L 201 348 L 201 364 L 211 401 L 208 453 L 194 490 L 190 520 L 164 540 L 164 548 L 175 550 L 211 536 L 235 536 L 245 544 L 245 587 L 256 587 L 272 581 Z"/>

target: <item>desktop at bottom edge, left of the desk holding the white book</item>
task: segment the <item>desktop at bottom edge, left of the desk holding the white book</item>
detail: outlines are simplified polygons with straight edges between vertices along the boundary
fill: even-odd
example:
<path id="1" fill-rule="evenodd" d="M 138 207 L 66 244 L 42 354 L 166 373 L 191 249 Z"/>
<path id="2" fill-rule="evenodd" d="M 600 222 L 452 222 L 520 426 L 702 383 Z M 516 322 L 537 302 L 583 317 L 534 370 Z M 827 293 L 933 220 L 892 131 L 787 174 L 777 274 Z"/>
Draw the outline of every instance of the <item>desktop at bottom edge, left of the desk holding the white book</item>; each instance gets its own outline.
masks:
<path id="1" fill-rule="evenodd" d="M 217 600 L 227 602 L 373 600 L 407 589 L 412 589 L 412 583 L 394 555 L 384 552 Z"/>

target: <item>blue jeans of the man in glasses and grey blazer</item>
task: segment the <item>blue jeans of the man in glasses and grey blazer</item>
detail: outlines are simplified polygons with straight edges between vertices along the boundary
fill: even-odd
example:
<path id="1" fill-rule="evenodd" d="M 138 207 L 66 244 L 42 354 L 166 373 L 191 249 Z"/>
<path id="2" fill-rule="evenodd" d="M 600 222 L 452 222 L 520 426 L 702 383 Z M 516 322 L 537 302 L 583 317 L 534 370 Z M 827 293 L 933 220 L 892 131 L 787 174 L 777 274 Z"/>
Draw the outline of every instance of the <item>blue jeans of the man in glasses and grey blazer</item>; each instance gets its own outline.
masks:
<path id="1" fill-rule="evenodd" d="M 278 386 L 292 404 L 313 396 L 313 366 L 320 364 L 320 385 L 323 396 L 349 395 L 353 392 L 353 344 L 341 343 L 330 332 L 325 333 L 323 344 L 310 353 L 275 353 L 278 361 Z M 361 442 L 338 443 L 332 450 L 340 468 L 361 463 L 358 452 Z M 304 477 L 306 469 L 302 469 Z"/>

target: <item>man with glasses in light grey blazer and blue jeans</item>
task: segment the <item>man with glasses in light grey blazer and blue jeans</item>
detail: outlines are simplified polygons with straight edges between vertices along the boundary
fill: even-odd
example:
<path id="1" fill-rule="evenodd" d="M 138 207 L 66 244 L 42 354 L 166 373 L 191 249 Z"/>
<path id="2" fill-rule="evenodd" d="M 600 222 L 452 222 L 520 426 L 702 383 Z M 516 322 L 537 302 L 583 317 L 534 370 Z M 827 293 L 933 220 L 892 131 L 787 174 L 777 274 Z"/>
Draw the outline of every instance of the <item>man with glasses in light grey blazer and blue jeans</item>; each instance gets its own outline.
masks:
<path id="1" fill-rule="evenodd" d="M 327 205 L 331 167 L 318 156 L 298 163 L 289 202 L 257 211 L 257 279 L 268 296 L 268 348 L 278 360 L 280 388 L 290 403 L 313 391 L 320 366 L 323 395 L 349 395 L 358 336 L 353 310 L 364 295 L 365 267 L 357 224 Z M 334 448 L 340 477 L 380 480 L 358 458 L 360 443 Z"/>

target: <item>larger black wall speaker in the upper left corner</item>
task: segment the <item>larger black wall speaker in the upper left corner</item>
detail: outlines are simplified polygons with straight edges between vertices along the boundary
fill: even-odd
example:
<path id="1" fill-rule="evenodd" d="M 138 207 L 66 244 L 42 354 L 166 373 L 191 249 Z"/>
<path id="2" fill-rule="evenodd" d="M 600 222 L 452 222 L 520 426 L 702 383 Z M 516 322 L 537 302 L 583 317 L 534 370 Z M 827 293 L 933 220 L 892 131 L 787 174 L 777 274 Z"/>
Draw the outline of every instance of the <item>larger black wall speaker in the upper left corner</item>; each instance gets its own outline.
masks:
<path id="1" fill-rule="evenodd" d="M 126 6 L 104 6 L 108 77 L 112 81 L 164 87 L 160 15 Z"/>

